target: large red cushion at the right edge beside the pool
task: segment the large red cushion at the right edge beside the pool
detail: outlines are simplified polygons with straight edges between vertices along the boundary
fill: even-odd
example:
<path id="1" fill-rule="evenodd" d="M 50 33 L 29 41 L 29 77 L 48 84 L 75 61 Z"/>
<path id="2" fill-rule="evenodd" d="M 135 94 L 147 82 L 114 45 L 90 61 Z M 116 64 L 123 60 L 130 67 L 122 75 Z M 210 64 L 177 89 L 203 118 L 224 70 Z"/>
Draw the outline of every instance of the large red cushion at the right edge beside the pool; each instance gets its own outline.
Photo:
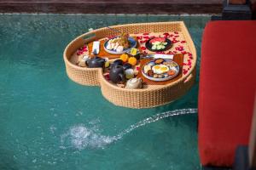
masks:
<path id="1" fill-rule="evenodd" d="M 248 144 L 256 90 L 256 21 L 212 21 L 201 47 L 199 150 L 202 165 L 230 167 Z"/>

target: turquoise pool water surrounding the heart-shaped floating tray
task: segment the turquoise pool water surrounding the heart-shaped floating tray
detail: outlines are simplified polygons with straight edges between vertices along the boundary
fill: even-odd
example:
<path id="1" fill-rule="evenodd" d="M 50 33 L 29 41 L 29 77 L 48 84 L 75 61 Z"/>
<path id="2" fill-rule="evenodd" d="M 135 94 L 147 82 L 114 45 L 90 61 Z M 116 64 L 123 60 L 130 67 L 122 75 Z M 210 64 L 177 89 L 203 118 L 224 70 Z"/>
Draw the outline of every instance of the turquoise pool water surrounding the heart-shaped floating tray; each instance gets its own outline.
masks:
<path id="1" fill-rule="evenodd" d="M 0 169 L 201 169 L 195 110 L 172 116 L 197 108 L 198 77 L 189 93 L 172 104 L 126 109 L 109 103 L 99 88 L 69 80 L 62 52 L 89 28 L 184 20 L 199 69 L 201 34 L 209 19 L 0 14 Z"/>

